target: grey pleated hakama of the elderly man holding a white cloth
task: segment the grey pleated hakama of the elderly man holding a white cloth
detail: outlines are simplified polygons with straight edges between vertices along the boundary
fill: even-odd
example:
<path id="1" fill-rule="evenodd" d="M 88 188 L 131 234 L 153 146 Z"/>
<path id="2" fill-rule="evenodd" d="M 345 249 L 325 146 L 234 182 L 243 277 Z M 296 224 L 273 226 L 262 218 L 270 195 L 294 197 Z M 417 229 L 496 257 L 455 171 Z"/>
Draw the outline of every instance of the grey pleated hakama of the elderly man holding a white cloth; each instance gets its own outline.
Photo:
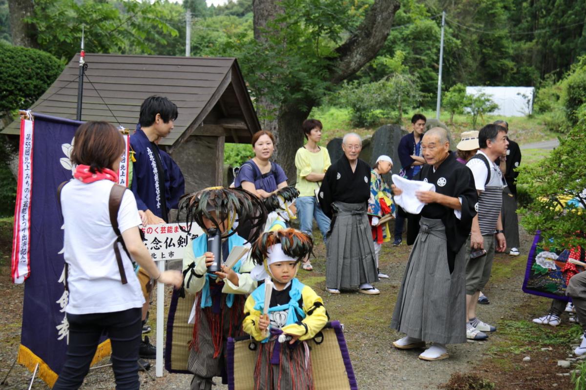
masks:
<path id="1" fill-rule="evenodd" d="M 465 254 L 462 245 L 450 274 L 444 224 L 421 218 L 397 295 L 393 329 L 424 341 L 465 343 Z"/>

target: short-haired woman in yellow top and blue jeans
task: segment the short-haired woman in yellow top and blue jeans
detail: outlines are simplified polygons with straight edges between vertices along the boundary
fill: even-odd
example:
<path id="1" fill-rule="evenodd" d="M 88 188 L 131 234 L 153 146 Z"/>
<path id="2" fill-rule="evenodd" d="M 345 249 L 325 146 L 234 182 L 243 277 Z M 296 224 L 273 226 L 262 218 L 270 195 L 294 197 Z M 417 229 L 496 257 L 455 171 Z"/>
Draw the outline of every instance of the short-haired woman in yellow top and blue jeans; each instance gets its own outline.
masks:
<path id="1" fill-rule="evenodd" d="M 322 232 L 323 240 L 329 231 L 330 220 L 323 214 L 318 201 L 315 199 L 315 191 L 319 190 L 328 167 L 332 165 L 328 149 L 320 148 L 318 143 L 322 138 L 322 122 L 318 119 L 306 119 L 301 125 L 303 134 L 307 139 L 305 146 L 297 150 L 295 155 L 295 167 L 297 168 L 297 184 L 299 190 L 297 198 L 297 214 L 299 217 L 299 230 L 312 236 L 314 218 Z M 311 263 L 306 262 L 303 269 L 311 271 Z"/>

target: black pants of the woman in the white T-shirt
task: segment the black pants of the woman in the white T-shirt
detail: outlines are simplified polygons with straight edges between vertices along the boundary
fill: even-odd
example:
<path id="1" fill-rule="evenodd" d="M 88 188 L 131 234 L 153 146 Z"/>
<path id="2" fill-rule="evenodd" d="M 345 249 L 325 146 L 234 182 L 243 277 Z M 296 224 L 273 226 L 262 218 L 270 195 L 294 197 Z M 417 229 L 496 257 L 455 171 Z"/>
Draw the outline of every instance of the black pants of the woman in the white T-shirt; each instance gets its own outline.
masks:
<path id="1" fill-rule="evenodd" d="M 67 314 L 69 345 L 67 358 L 53 390 L 78 389 L 90 369 L 101 334 L 112 345 L 112 367 L 117 390 L 134 390 L 138 381 L 138 347 L 141 342 L 140 307 L 122 312 Z"/>

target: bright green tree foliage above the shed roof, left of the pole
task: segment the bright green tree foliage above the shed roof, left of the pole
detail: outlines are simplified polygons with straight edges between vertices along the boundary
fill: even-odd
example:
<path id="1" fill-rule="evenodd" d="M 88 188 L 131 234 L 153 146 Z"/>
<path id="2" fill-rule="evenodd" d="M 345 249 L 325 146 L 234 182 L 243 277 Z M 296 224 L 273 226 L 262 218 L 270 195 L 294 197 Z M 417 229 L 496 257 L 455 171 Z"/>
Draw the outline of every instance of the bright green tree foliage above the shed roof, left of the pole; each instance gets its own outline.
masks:
<path id="1" fill-rule="evenodd" d="M 178 36 L 165 22 L 172 10 L 161 0 L 36 0 L 35 15 L 27 21 L 38 28 L 41 49 L 69 61 L 79 52 L 81 26 L 88 53 L 154 54 L 157 46 L 165 47 Z"/>

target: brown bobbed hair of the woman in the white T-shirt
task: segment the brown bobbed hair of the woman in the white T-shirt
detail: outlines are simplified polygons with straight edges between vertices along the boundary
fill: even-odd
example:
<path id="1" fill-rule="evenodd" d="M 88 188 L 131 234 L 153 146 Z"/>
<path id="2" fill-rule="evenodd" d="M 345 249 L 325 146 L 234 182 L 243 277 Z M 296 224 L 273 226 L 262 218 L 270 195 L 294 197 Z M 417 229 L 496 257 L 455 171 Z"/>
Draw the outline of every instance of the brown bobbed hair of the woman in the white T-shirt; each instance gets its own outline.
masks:
<path id="1" fill-rule="evenodd" d="M 71 162 L 89 165 L 91 173 L 101 172 L 103 168 L 112 169 L 115 160 L 122 156 L 125 149 L 120 131 L 105 121 L 81 124 L 73 139 Z"/>

